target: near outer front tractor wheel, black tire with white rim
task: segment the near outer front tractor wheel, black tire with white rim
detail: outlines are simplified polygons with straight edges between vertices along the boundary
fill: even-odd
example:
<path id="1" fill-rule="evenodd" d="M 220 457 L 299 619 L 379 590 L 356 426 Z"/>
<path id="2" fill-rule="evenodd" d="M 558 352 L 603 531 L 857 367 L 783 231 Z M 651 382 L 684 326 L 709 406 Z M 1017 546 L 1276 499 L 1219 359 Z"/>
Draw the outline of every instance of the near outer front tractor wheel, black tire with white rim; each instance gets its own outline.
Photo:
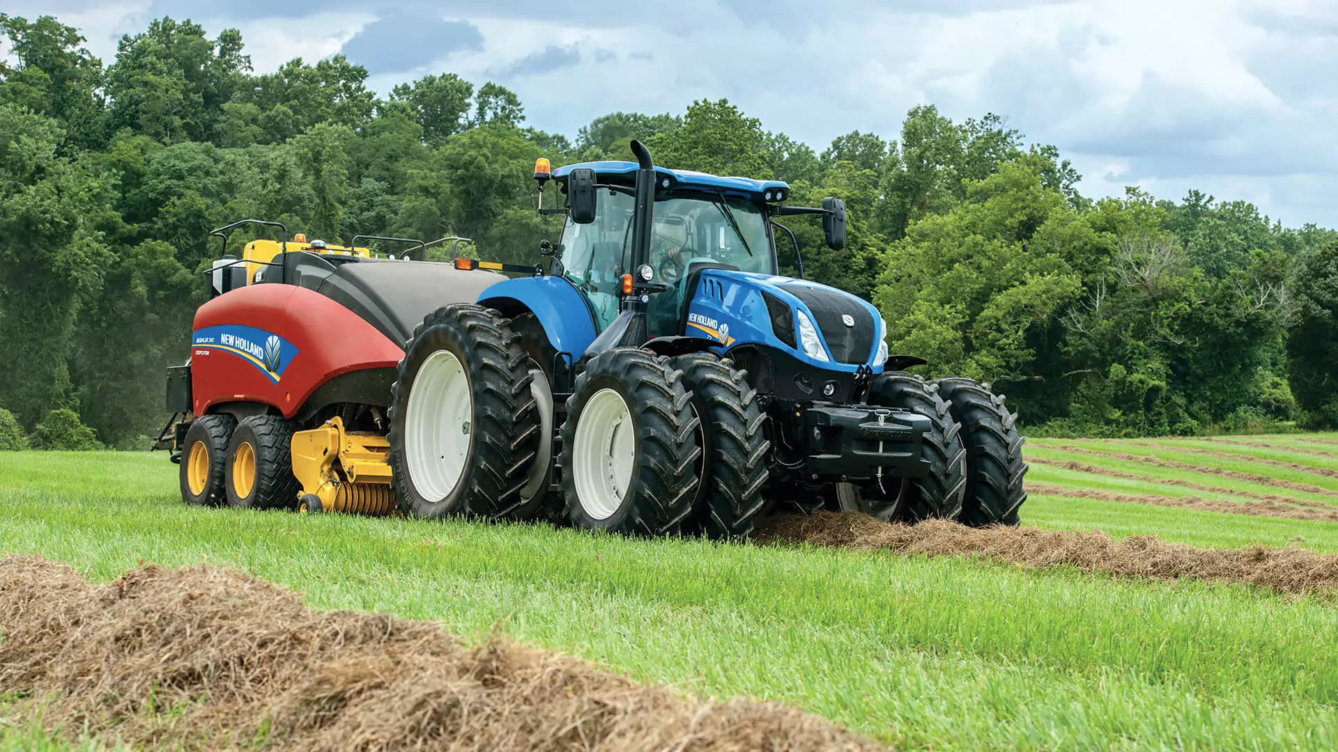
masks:
<path id="1" fill-rule="evenodd" d="M 682 372 L 640 348 L 586 365 L 562 424 L 562 496 L 577 527 L 672 535 L 692 515 L 701 456 Z"/>

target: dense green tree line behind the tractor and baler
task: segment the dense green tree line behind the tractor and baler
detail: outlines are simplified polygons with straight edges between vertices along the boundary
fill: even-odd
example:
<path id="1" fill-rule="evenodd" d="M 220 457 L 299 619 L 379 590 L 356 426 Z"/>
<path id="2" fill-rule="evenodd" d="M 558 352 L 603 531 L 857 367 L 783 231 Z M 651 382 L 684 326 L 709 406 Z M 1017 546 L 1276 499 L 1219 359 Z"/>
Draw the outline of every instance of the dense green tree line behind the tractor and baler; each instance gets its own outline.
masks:
<path id="1" fill-rule="evenodd" d="M 454 74 L 385 98 L 340 55 L 257 75 L 235 29 L 189 20 L 122 37 L 110 64 L 51 16 L 0 15 L 0 448 L 146 444 L 215 226 L 456 234 L 533 262 L 559 231 L 534 211 L 534 159 L 630 159 L 633 138 L 669 167 L 788 181 L 795 203 L 843 198 L 842 252 L 791 225 L 807 276 L 874 301 L 926 375 L 995 384 L 1033 431 L 1338 426 L 1338 234 L 1199 191 L 1084 197 L 1054 146 L 993 114 L 918 106 L 818 151 L 720 99 L 567 138 Z M 788 237 L 777 253 L 795 273 Z"/>

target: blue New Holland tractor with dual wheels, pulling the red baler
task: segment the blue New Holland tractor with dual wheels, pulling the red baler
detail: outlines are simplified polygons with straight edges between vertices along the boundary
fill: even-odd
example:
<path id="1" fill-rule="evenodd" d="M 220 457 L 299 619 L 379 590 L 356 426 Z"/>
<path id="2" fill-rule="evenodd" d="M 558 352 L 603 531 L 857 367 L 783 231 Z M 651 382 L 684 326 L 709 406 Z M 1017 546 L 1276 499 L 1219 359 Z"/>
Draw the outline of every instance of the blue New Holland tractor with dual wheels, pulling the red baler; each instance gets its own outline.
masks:
<path id="1" fill-rule="evenodd" d="M 565 215 L 546 266 L 428 314 L 389 400 L 397 504 L 585 529 L 744 538 L 775 504 L 1017 525 L 1022 438 L 1004 397 L 906 373 L 878 309 L 779 274 L 776 181 L 638 162 L 535 167 Z M 543 209 L 555 183 L 565 205 Z M 797 242 L 793 242 L 797 254 Z M 475 284 L 466 285 L 478 289 Z M 474 293 L 470 293 L 471 296 Z M 460 296 L 463 297 L 463 296 Z"/>

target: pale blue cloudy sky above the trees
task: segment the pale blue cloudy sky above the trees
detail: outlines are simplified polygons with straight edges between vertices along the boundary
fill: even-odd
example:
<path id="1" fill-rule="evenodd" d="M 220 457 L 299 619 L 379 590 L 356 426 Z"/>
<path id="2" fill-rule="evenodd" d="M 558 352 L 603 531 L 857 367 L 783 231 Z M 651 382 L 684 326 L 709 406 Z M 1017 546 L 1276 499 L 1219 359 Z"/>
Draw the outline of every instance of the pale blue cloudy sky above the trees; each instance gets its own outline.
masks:
<path id="1" fill-rule="evenodd" d="M 822 150 L 933 103 L 1054 143 L 1088 195 L 1139 185 L 1338 226 L 1335 0 L 7 0 L 110 62 L 153 17 L 237 27 L 257 71 L 344 52 L 371 86 L 451 71 L 574 136 L 614 110 L 727 96 Z M 581 8 L 579 13 L 574 8 Z"/>

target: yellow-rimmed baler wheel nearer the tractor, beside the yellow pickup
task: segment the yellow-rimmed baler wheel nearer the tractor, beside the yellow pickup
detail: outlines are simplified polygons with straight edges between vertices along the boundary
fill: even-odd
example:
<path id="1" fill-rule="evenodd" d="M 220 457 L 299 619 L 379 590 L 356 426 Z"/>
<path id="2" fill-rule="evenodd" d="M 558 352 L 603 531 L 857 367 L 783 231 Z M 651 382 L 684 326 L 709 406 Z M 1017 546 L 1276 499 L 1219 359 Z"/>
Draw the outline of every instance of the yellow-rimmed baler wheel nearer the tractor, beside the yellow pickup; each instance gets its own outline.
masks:
<path id="1" fill-rule="evenodd" d="M 248 448 L 244 448 L 249 447 Z M 250 467 L 238 456 L 252 452 Z M 254 415 L 237 424 L 227 443 L 223 490 L 227 506 L 297 508 L 302 484 L 293 475 L 293 424 L 277 415 Z"/>

